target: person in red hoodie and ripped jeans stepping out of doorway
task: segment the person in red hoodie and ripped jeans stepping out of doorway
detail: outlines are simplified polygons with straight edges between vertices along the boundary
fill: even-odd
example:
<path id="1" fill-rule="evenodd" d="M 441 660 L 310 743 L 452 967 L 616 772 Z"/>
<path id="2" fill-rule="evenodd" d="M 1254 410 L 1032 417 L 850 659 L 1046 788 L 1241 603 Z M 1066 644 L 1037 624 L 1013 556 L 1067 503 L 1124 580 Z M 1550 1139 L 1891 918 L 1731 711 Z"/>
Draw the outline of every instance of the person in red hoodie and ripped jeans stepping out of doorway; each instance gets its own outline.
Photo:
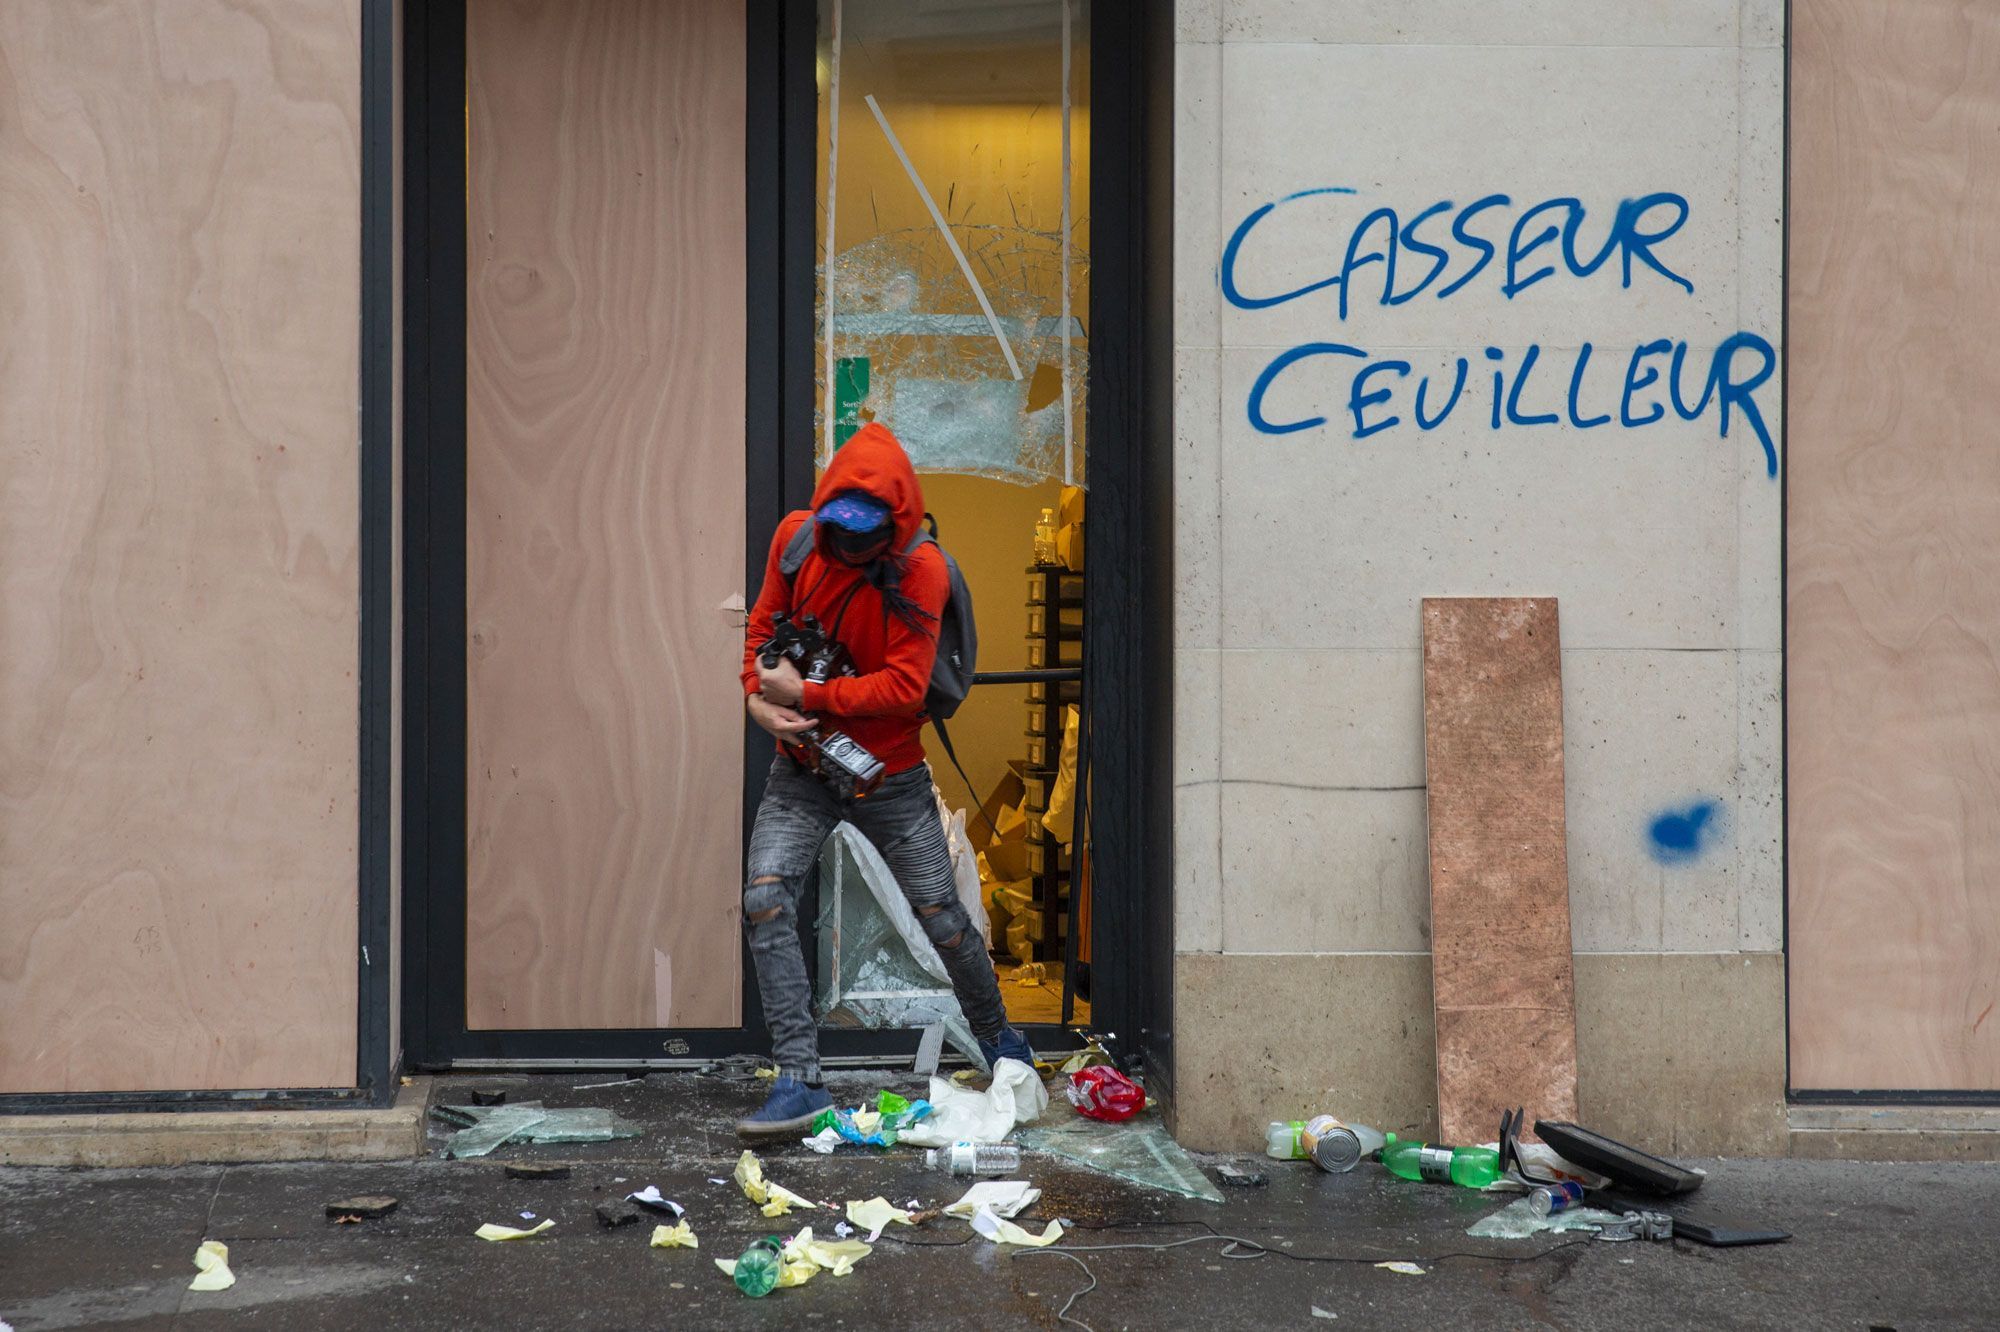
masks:
<path id="1" fill-rule="evenodd" d="M 814 522 L 812 552 L 786 578 L 780 562 L 792 536 Z M 938 652 L 938 618 L 950 594 L 936 544 L 912 546 L 924 520 L 924 492 L 902 444 L 884 426 L 862 426 L 828 464 L 812 492 L 812 512 L 778 524 L 764 562 L 764 588 L 744 634 L 744 706 L 778 740 L 764 802 L 750 834 L 744 876 L 744 932 L 756 962 L 764 1024 L 778 1078 L 764 1106 L 736 1122 L 746 1138 L 790 1136 L 832 1106 L 820 1084 L 820 1040 L 812 986 L 798 944 L 798 894 L 834 824 L 854 824 L 876 848 L 924 934 L 938 948 L 988 1064 L 1018 1058 L 1034 1066 L 1026 1038 L 1006 1024 L 986 940 L 958 902 L 952 852 L 944 840 L 930 764 L 924 762 L 924 694 Z M 774 616 L 814 614 L 848 648 L 856 676 L 806 682 L 788 660 L 764 666 L 760 650 Z M 882 760 L 868 796 L 828 788 L 792 740 L 822 726 L 846 732 Z"/>

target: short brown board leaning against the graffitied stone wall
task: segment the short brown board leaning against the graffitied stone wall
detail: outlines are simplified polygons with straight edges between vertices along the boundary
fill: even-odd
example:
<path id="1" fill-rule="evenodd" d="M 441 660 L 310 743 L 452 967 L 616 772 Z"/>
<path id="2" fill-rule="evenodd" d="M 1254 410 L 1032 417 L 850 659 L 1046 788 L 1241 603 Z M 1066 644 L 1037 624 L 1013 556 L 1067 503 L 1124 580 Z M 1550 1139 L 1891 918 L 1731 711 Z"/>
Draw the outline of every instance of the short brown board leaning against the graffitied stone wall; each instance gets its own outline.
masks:
<path id="1" fill-rule="evenodd" d="M 1576 980 L 1554 598 L 1424 600 L 1438 1128 L 1576 1118 Z"/>

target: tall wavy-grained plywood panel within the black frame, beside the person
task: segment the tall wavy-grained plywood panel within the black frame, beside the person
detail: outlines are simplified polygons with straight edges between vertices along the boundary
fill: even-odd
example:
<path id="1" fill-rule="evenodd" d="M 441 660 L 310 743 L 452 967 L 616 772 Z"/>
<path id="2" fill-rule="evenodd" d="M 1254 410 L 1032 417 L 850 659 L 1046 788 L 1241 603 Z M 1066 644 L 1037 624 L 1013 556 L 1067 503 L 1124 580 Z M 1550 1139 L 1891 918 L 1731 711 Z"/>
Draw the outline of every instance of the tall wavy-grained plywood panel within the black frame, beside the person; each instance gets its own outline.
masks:
<path id="1" fill-rule="evenodd" d="M 468 1022 L 736 1026 L 744 8 L 466 20 Z"/>

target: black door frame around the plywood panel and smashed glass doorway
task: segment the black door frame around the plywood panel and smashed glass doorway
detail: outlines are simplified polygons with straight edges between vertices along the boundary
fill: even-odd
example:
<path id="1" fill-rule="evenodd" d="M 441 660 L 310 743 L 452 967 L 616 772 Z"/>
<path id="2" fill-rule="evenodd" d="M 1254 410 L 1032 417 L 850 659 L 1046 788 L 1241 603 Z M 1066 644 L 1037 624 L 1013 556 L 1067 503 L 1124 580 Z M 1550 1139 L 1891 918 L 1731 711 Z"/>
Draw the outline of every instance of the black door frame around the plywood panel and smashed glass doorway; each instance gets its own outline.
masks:
<path id="1" fill-rule="evenodd" d="M 748 950 L 742 1028 L 466 1026 L 464 4 L 404 30 L 402 1038 L 412 1068 L 672 1066 L 764 1048 Z M 744 588 L 814 480 L 816 6 L 752 0 L 746 136 Z M 1086 700 L 1094 792 L 1094 1016 L 1168 1068 L 1172 966 L 1172 12 L 1092 14 L 1092 562 Z M 1162 110 L 1164 108 L 1164 110 Z M 1108 244 L 1118 238 L 1118 244 Z M 746 726 L 744 830 L 770 742 Z M 804 922 L 810 910 L 800 912 Z M 808 964 L 812 950 L 808 948 Z M 916 1032 L 822 1030 L 828 1062 L 908 1058 Z M 1136 1040 L 1134 1040 L 1136 1038 Z"/>

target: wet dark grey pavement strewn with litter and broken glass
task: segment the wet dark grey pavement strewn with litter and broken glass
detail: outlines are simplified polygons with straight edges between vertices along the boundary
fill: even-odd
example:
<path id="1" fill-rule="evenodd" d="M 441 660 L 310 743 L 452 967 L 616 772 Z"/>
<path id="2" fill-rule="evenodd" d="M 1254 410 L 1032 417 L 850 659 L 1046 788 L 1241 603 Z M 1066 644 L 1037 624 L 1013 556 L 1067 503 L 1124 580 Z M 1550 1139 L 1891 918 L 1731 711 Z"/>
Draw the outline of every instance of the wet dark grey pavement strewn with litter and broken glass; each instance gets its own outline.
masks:
<path id="1" fill-rule="evenodd" d="M 1466 1226 L 1498 1206 L 1466 1190 L 1410 1184 L 1364 1164 L 1348 1176 L 1266 1168 L 1270 1184 L 1224 1190 L 1222 1206 L 1146 1192 L 1028 1156 L 1044 1190 L 1032 1216 L 1068 1216 L 1066 1258 L 994 1248 L 938 1220 L 892 1228 L 852 1276 L 818 1276 L 746 1300 L 712 1258 L 806 1224 L 766 1222 L 726 1178 L 728 1122 L 748 1086 L 656 1074 L 622 1088 L 572 1090 L 604 1076 L 458 1078 L 514 1100 L 612 1106 L 646 1136 L 588 1146 L 506 1146 L 446 1162 L 294 1162 L 150 1170 L 0 1168 L 0 1318 L 18 1332 L 82 1326 L 282 1328 L 1970 1328 L 2000 1308 L 1994 1272 L 2000 1166 L 1702 1162 L 1690 1210 L 1794 1232 L 1790 1244 L 1708 1250 L 1558 1236 L 1478 1242 Z M 852 1102 L 878 1086 L 920 1094 L 908 1076 L 842 1074 Z M 450 1098 L 454 1092 L 446 1092 Z M 798 1146 L 762 1152 L 772 1178 L 808 1198 L 884 1194 L 936 1206 L 964 1182 L 928 1174 L 916 1152 Z M 510 1160 L 572 1162 L 572 1178 L 510 1180 Z M 1204 1158 L 1216 1164 L 1218 1158 Z M 652 1250 L 650 1222 L 604 1230 L 594 1204 L 658 1184 L 688 1206 L 700 1252 Z M 336 1226 L 326 1202 L 386 1192 L 402 1206 Z M 482 1222 L 554 1218 L 538 1240 L 488 1244 Z M 832 1214 L 820 1214 L 830 1228 Z M 1040 1224 L 1032 1226 L 1040 1230 Z M 1228 1258 L 1212 1232 L 1274 1250 Z M 238 1282 L 188 1292 L 204 1240 L 230 1246 Z M 1084 1252 L 1086 1244 L 1172 1250 Z M 1410 1258 L 1426 1276 L 1374 1262 Z M 1086 1272 L 1088 1268 L 1088 1272 Z M 1338 1320 L 1314 1318 L 1318 1306 Z M 1074 1324 L 1068 1324 L 1074 1326 Z"/>

